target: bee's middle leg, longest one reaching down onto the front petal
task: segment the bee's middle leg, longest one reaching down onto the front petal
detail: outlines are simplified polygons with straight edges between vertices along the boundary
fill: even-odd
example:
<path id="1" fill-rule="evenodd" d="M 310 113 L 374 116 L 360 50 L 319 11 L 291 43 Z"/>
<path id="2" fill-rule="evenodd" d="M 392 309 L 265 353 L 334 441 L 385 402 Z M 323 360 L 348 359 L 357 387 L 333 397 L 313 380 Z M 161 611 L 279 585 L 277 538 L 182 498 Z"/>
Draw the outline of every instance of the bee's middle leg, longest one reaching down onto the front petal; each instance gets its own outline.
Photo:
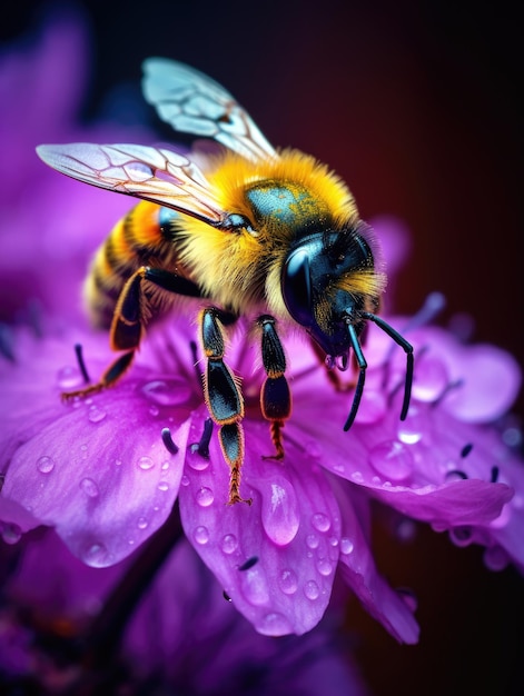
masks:
<path id="1" fill-rule="evenodd" d="M 244 399 L 238 380 L 224 362 L 224 334 L 220 324 L 227 324 L 230 315 L 209 307 L 201 312 L 201 339 L 207 367 L 204 375 L 204 397 L 217 425 L 220 447 L 231 474 L 229 477 L 228 505 L 248 503 L 240 496 L 240 469 L 244 461 Z"/>

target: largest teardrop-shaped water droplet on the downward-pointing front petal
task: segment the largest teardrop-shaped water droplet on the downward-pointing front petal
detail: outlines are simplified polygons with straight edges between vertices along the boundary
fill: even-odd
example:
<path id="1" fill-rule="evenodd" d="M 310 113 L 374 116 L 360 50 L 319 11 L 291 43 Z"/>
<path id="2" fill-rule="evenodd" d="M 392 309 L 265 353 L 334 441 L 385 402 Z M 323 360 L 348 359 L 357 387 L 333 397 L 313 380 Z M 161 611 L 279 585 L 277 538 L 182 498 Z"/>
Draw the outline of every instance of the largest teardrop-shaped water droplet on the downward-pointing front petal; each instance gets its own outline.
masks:
<path id="1" fill-rule="evenodd" d="M 283 477 L 271 479 L 263 491 L 261 521 L 267 536 L 278 546 L 296 537 L 300 517 L 293 486 Z"/>

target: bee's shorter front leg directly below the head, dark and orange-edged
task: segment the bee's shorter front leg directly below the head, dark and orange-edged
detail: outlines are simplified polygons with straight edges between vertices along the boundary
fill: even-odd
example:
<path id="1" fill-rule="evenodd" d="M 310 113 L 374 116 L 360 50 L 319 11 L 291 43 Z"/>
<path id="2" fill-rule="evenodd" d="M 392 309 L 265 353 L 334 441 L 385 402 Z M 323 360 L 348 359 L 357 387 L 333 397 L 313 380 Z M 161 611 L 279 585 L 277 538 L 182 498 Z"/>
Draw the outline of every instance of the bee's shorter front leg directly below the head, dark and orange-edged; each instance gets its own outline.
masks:
<path id="1" fill-rule="evenodd" d="M 266 459 L 283 459 L 281 429 L 291 414 L 291 392 L 284 375 L 286 356 L 275 328 L 275 319 L 268 315 L 258 318 L 261 328 L 261 357 L 267 377 L 260 391 L 260 408 L 264 418 L 270 421 L 271 441 L 276 454 Z"/>

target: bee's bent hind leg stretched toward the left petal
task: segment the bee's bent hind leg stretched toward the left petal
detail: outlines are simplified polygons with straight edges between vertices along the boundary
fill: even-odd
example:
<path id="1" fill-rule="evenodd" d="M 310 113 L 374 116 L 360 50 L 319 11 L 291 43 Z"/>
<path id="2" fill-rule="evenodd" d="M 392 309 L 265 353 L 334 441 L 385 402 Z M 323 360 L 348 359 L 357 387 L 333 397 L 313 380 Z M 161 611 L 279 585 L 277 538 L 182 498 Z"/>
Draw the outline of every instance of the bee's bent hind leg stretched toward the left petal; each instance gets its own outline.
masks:
<path id="1" fill-rule="evenodd" d="M 132 362 L 135 352 L 144 338 L 147 320 L 147 298 L 145 285 L 152 284 L 162 290 L 200 297 L 198 286 L 190 280 L 159 268 L 140 267 L 126 282 L 118 298 L 109 331 L 112 350 L 125 350 L 103 372 L 99 381 L 83 389 L 62 394 L 63 399 L 95 394 L 115 385 Z"/>

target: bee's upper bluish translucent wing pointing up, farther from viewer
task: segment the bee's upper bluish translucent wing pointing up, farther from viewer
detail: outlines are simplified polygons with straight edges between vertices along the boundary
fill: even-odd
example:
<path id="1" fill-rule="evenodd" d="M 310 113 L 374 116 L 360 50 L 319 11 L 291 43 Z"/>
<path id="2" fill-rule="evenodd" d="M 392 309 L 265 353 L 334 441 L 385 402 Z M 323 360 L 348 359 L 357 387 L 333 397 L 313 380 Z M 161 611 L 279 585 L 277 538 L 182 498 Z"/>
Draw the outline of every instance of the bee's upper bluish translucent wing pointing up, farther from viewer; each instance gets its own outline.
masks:
<path id="1" fill-rule="evenodd" d="M 250 160 L 277 157 L 249 115 L 218 82 L 166 58 L 144 62 L 142 91 L 175 130 L 212 138 Z"/>

